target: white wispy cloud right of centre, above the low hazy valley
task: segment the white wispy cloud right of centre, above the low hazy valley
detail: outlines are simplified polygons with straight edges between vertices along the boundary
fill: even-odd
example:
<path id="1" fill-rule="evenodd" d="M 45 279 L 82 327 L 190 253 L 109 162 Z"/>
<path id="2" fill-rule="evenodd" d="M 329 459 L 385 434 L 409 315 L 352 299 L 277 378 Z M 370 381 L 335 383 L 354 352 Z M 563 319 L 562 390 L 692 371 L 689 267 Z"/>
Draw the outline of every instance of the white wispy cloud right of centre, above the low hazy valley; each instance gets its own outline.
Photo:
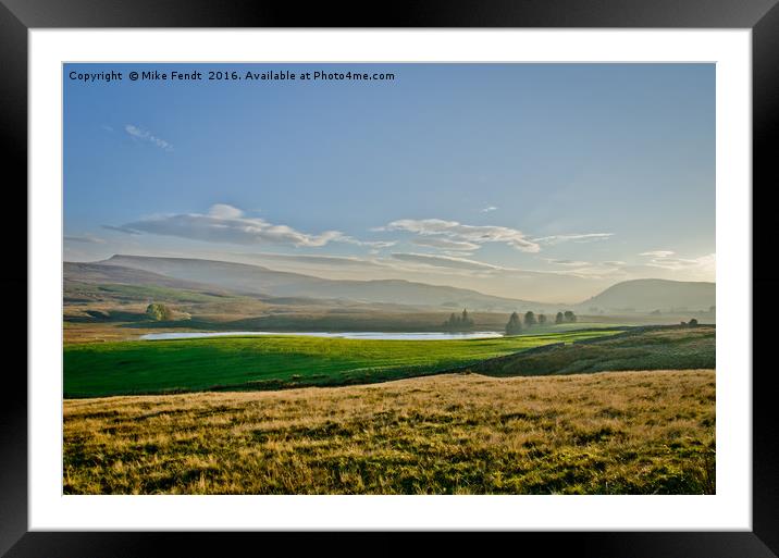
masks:
<path id="1" fill-rule="evenodd" d="M 540 246 L 516 228 L 494 225 L 463 225 L 442 219 L 401 219 L 374 231 L 405 231 L 421 237 L 444 237 L 455 243 L 482 245 L 502 243 L 524 252 L 537 252 Z"/>

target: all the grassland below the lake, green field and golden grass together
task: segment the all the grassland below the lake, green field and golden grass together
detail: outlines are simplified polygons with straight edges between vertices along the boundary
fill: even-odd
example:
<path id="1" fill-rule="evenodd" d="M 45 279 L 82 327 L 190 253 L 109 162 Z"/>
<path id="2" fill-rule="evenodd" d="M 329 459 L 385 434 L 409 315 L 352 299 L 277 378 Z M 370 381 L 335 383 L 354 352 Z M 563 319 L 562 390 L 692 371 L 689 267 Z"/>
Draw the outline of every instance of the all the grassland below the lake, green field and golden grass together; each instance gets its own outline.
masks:
<path id="1" fill-rule="evenodd" d="M 66 344 L 63 489 L 714 494 L 715 354 L 710 325 Z"/>

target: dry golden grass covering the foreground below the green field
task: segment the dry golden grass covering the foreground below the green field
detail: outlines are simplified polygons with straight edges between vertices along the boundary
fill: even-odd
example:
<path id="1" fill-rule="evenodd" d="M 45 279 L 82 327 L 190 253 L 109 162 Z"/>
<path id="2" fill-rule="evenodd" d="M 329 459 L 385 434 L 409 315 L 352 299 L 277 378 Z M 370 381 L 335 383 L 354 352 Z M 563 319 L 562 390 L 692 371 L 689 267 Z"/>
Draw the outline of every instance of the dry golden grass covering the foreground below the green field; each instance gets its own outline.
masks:
<path id="1" fill-rule="evenodd" d="M 712 494 L 713 370 L 64 402 L 66 494 Z"/>

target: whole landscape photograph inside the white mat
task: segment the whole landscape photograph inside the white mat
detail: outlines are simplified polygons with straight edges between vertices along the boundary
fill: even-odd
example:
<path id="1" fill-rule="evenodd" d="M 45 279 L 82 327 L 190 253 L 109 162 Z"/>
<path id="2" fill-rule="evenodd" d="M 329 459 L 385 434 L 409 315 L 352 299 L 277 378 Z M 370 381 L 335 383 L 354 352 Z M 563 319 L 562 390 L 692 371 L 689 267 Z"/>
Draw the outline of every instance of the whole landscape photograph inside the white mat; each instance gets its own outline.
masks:
<path id="1" fill-rule="evenodd" d="M 63 494 L 716 494 L 715 92 L 64 64 Z"/>

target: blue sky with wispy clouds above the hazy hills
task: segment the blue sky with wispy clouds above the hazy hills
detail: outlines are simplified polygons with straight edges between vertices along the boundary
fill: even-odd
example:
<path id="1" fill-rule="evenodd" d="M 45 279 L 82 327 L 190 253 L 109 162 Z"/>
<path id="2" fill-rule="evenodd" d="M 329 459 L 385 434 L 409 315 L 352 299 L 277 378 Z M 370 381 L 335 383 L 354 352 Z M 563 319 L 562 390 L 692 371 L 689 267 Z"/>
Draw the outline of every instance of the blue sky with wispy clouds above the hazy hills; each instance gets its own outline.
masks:
<path id="1" fill-rule="evenodd" d="M 124 79 L 67 78 L 111 70 Z M 133 70 L 395 78 L 131 82 Z M 70 261 L 205 257 L 549 301 L 626 278 L 715 278 L 713 64 L 64 76 Z"/>

